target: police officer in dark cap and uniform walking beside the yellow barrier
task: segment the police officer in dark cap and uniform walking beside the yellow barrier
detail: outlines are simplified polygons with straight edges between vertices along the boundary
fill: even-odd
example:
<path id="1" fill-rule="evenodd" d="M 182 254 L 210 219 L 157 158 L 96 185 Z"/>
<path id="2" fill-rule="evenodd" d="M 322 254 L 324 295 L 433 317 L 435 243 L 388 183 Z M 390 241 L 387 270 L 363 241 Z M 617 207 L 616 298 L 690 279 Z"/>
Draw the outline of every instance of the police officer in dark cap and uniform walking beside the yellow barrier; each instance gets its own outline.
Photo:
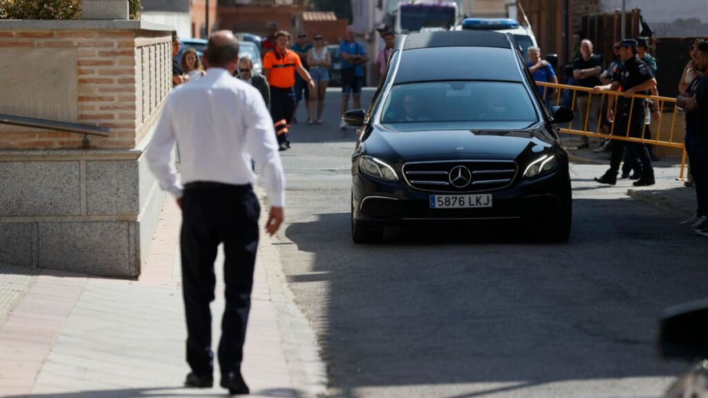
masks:
<path id="1" fill-rule="evenodd" d="M 629 137 L 641 138 L 646 101 L 642 98 L 632 99 L 631 96 L 634 94 L 647 95 L 649 90 L 656 87 L 656 79 L 654 79 L 651 69 L 636 57 L 636 52 L 636 40 L 622 40 L 619 57 L 624 63 L 619 67 L 618 73 L 612 76 L 612 83 L 605 86 L 595 86 L 593 87 L 593 92 L 599 93 L 600 90 L 617 91 L 617 89 L 621 88 L 622 96 L 617 97 L 617 115 L 614 113 L 615 96 L 608 96 L 607 120 L 610 122 L 615 120 L 612 134 L 627 135 L 627 129 L 629 129 Z M 632 104 L 633 102 L 634 104 Z M 651 158 L 646 144 L 622 140 L 615 140 L 612 143 L 610 169 L 603 176 L 596 177 L 595 181 L 610 185 L 617 183 L 617 172 L 619 171 L 619 163 L 622 161 L 625 143 L 632 145 L 643 165 L 641 177 L 639 180 L 634 181 L 634 186 L 653 185 L 654 169 L 651 166 Z"/>

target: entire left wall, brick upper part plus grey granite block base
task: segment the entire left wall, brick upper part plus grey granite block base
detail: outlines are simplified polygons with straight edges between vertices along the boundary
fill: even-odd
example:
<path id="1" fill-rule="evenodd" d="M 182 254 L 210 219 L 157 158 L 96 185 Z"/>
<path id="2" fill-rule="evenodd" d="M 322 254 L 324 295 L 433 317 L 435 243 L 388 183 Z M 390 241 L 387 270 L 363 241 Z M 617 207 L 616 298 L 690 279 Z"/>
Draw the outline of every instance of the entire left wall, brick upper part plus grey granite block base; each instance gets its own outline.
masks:
<path id="1" fill-rule="evenodd" d="M 0 113 L 108 137 L 0 125 L 0 263 L 135 277 L 164 193 L 144 149 L 171 89 L 171 28 L 0 21 Z"/>

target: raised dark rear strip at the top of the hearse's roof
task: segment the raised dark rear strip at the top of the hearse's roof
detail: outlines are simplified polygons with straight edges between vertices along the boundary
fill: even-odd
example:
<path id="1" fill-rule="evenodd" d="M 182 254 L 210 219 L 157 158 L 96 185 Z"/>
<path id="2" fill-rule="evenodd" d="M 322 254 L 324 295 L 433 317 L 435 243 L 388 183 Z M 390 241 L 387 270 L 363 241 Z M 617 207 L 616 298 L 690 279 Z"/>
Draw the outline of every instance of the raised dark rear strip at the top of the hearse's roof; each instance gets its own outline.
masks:
<path id="1" fill-rule="evenodd" d="M 399 39 L 400 40 L 400 39 Z M 509 39 L 503 33 L 488 30 L 441 30 L 406 35 L 403 50 L 430 47 L 499 47 L 510 48 Z"/>

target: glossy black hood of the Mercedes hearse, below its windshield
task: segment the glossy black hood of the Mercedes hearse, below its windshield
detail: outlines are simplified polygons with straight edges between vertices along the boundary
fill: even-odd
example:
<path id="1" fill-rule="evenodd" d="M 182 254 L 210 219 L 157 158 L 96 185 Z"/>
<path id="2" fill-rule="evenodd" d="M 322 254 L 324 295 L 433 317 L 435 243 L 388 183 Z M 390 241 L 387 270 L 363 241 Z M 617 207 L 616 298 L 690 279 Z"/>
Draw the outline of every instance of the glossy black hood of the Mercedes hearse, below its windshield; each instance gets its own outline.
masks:
<path id="1" fill-rule="evenodd" d="M 543 152 L 554 140 L 536 130 L 377 130 L 367 138 L 367 153 L 387 159 L 445 160 L 469 158 L 514 160 L 526 150 Z"/>

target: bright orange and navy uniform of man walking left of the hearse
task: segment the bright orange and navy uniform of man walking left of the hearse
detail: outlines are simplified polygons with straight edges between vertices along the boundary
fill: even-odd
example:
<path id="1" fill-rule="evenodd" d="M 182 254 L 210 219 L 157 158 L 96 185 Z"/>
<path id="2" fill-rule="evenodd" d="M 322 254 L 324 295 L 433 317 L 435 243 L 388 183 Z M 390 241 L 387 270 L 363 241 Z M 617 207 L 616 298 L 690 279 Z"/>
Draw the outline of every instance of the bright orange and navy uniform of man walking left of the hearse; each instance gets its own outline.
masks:
<path id="1" fill-rule="evenodd" d="M 290 148 L 287 132 L 295 111 L 295 91 L 292 86 L 295 86 L 295 69 L 298 66 L 302 66 L 299 55 L 289 49 L 280 51 L 275 48 L 263 58 L 263 69 L 270 69 L 270 116 L 273 118 L 281 151 Z"/>

